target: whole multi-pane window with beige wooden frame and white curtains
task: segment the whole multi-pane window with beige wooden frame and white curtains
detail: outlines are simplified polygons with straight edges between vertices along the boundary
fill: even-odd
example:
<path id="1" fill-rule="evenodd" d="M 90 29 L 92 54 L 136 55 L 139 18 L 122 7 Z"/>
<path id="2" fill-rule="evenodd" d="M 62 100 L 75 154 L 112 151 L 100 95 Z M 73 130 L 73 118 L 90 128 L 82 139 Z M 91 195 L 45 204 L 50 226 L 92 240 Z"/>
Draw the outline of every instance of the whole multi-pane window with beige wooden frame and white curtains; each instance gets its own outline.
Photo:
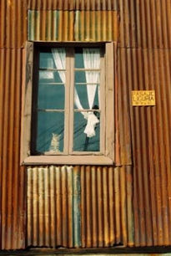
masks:
<path id="1" fill-rule="evenodd" d="M 24 164 L 113 164 L 113 54 L 113 43 L 28 42 Z"/>

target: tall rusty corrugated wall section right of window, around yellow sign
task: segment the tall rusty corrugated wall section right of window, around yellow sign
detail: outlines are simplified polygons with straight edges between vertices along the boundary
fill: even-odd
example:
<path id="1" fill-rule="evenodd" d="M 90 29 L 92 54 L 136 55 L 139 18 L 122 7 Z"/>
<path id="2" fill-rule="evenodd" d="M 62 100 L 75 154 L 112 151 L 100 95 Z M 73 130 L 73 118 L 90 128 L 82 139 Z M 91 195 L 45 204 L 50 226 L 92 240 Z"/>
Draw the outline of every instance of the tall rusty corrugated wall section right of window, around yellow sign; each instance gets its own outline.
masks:
<path id="1" fill-rule="evenodd" d="M 118 86 L 155 90 L 155 107 L 130 107 L 135 246 L 171 243 L 171 1 L 119 1 Z M 127 88 L 127 89 L 126 89 Z M 131 105 L 130 97 L 128 104 Z"/>

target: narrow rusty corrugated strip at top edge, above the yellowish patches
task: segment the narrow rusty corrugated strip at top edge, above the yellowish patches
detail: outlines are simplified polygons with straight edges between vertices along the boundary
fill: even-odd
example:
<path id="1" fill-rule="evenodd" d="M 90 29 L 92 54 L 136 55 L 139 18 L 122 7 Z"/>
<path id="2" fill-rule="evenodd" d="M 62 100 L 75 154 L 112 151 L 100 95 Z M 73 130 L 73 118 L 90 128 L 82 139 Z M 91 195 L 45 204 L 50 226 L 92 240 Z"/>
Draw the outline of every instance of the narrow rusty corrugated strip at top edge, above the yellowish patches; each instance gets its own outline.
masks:
<path id="1" fill-rule="evenodd" d="M 32 10 L 86 10 L 112 11 L 118 8 L 118 0 L 27 0 Z"/>

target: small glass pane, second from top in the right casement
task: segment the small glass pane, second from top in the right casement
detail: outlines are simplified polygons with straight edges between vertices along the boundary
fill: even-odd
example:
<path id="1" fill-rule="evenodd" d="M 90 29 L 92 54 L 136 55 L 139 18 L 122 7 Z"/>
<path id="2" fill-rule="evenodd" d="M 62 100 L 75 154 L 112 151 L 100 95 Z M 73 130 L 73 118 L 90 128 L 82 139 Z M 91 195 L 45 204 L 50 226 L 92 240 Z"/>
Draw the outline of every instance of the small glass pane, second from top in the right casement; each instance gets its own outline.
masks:
<path id="1" fill-rule="evenodd" d="M 98 83 L 100 82 L 99 71 L 75 71 L 75 83 Z"/>

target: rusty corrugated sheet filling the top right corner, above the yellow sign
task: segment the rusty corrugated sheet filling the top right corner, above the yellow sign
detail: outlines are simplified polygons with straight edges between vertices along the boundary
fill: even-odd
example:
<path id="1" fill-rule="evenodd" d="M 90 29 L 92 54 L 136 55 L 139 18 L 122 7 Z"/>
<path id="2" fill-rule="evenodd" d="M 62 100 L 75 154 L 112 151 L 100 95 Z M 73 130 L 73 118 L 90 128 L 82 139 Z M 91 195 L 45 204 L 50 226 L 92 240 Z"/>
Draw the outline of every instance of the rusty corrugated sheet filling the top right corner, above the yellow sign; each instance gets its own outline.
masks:
<path id="1" fill-rule="evenodd" d="M 170 0 L 118 0 L 121 47 L 171 48 Z"/>

